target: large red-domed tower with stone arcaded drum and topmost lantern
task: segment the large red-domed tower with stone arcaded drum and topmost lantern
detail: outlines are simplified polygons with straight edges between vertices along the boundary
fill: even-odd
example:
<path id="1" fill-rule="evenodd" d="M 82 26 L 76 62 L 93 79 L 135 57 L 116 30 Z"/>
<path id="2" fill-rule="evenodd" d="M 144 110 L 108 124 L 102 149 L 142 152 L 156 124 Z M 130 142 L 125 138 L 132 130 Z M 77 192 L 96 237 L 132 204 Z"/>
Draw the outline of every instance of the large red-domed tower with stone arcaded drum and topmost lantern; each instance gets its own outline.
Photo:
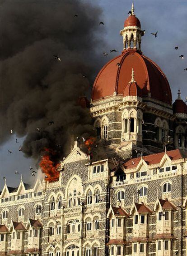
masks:
<path id="1" fill-rule="evenodd" d="M 90 111 L 97 137 L 123 158 L 173 148 L 172 94 L 164 72 L 140 50 L 140 20 L 124 22 L 122 54 L 98 73 Z"/>

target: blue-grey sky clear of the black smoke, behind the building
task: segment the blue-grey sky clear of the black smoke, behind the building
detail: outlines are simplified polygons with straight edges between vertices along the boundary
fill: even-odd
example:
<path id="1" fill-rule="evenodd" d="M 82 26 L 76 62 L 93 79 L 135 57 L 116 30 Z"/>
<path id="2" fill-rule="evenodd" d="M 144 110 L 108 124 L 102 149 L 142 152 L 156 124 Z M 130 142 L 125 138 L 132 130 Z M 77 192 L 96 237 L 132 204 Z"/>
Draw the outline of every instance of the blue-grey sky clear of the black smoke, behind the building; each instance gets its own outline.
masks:
<path id="1" fill-rule="evenodd" d="M 45 0 L 42 2 L 45 5 Z M 82 2 L 86 4 L 87 1 Z M 101 28 L 103 32 L 98 36 L 104 39 L 106 44 L 102 45 L 102 49 L 98 49 L 101 53 L 98 63 L 104 64 L 122 51 L 120 30 L 123 29 L 128 11 L 131 10 L 132 1 L 92 0 L 91 2 L 103 11 L 102 20 L 98 22 L 103 21 L 104 27 Z M 173 102 L 177 98 L 179 87 L 181 97 L 185 100 L 187 95 L 187 71 L 184 71 L 187 68 L 187 1 L 135 0 L 134 9 L 136 17 L 140 20 L 141 29 L 145 30 L 141 42 L 143 54 L 156 62 L 166 74 L 172 90 Z M 150 33 L 156 31 L 158 36 L 154 38 Z M 178 46 L 178 50 L 174 49 L 175 46 Z M 117 49 L 118 52 L 103 57 L 103 52 L 109 52 L 110 49 Z M 184 55 L 183 60 L 179 58 L 181 54 Z M 98 64 L 98 72 L 100 68 Z M 25 158 L 22 152 L 17 150 L 24 138 L 18 138 L 17 144 L 16 138 L 18 138 L 16 134 L 12 135 L 0 147 L 0 189 L 4 184 L 3 177 L 7 178 L 7 184 L 10 187 L 19 184 L 21 174 L 24 182 L 33 181 L 29 167 L 34 167 L 35 163 L 32 158 Z M 8 149 L 11 149 L 11 154 L 8 153 Z M 19 172 L 18 175 L 14 174 L 15 170 Z"/>

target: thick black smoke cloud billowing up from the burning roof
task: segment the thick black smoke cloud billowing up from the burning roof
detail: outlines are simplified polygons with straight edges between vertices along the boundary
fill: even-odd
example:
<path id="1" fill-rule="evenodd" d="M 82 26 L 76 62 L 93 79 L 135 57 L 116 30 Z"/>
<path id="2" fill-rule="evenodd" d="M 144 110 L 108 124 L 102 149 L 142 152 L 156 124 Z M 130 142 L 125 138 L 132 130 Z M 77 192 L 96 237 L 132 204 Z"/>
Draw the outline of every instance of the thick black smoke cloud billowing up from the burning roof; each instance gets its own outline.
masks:
<path id="1" fill-rule="evenodd" d="M 26 157 L 38 160 L 50 148 L 57 162 L 70 148 L 72 133 L 93 133 L 89 109 L 77 99 L 89 94 L 103 64 L 101 15 L 83 1 L 1 2 L 2 143 L 13 129 L 26 136 Z"/>

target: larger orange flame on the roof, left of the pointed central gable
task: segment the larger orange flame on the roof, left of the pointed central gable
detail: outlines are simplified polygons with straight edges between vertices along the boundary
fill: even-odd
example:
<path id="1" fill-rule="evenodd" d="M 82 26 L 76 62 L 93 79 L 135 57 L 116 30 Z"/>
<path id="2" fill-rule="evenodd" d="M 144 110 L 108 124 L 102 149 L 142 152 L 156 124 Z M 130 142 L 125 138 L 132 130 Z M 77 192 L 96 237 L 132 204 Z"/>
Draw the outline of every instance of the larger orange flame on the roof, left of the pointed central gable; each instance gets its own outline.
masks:
<path id="1" fill-rule="evenodd" d="M 44 149 L 45 152 L 47 153 L 42 157 L 42 160 L 40 161 L 40 168 L 42 170 L 42 173 L 45 173 L 46 178 L 45 180 L 49 182 L 54 182 L 59 179 L 59 172 L 57 171 L 58 167 L 60 167 L 59 163 L 54 163 L 50 159 L 50 155 L 53 155 L 54 153 L 48 149 Z"/>

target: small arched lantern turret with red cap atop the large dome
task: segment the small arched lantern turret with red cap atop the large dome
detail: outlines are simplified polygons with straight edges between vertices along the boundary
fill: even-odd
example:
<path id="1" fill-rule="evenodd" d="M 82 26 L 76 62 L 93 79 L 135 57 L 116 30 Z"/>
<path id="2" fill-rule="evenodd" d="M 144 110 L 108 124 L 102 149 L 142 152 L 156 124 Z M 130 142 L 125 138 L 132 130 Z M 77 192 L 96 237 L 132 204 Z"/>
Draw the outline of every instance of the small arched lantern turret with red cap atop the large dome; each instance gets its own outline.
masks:
<path id="1" fill-rule="evenodd" d="M 123 36 L 123 49 L 138 48 L 140 50 L 141 36 L 145 34 L 145 30 L 141 30 L 140 20 L 134 14 L 133 2 L 129 13 L 129 17 L 124 22 L 124 29 L 120 31 L 120 34 Z M 132 46 L 131 42 L 133 43 Z"/>

